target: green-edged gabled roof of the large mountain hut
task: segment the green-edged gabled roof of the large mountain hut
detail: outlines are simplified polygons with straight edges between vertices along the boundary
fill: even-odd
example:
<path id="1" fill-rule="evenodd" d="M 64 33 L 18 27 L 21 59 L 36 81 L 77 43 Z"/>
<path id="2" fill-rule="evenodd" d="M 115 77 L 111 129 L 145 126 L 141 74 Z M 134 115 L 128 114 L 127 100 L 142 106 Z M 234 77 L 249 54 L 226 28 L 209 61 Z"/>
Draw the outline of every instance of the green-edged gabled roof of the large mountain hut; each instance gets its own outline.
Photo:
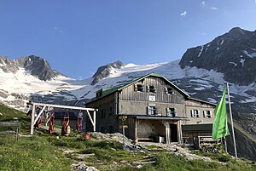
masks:
<path id="1" fill-rule="evenodd" d="M 150 73 L 148 75 L 145 75 L 143 77 L 139 77 L 139 78 L 135 79 L 131 83 L 126 83 L 124 85 L 120 85 L 120 86 L 117 86 L 117 87 L 102 88 L 102 89 L 98 90 L 97 92 L 102 91 L 102 96 L 101 97 L 104 97 L 104 96 L 106 96 L 108 94 L 112 94 L 113 92 L 120 91 L 120 90 L 122 90 L 124 88 L 127 88 L 127 87 L 131 86 L 133 83 L 137 83 L 137 82 L 143 80 L 146 77 L 160 77 L 160 78 L 164 79 L 167 83 L 170 83 L 174 88 L 177 88 L 177 90 L 180 93 L 184 94 L 186 97 L 189 97 L 189 94 L 186 94 L 181 88 L 178 88 L 174 83 L 170 82 L 166 77 L 163 77 L 163 76 L 161 76 L 159 74 L 156 74 L 156 73 Z"/>

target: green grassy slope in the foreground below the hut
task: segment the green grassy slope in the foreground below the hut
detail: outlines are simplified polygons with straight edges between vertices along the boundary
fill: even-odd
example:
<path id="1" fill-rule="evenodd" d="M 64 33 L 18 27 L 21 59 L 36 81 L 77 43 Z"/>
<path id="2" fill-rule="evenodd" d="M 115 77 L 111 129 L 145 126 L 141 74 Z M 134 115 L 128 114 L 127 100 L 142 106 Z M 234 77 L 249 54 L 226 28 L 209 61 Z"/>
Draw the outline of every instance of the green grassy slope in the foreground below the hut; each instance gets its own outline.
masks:
<path id="1" fill-rule="evenodd" d="M 29 133 L 30 119 L 20 111 L 0 105 L 0 121 L 12 121 L 18 117 L 22 123 L 22 134 Z M 100 170 L 256 170 L 254 164 L 236 162 L 230 157 L 227 164 L 187 161 L 163 149 L 148 151 L 124 151 L 122 145 L 114 141 L 84 140 L 83 136 L 73 133 L 70 137 L 56 138 L 54 135 L 36 131 L 35 136 L 21 136 L 15 142 L 14 135 L 0 135 L 0 168 L 1 170 L 70 170 L 72 163 L 86 162 Z M 63 150 L 74 150 L 75 153 L 63 154 Z M 80 154 L 95 155 L 79 158 Z M 213 155 L 215 160 L 223 161 L 223 154 Z M 134 162 L 154 161 L 142 168 L 135 168 Z"/>

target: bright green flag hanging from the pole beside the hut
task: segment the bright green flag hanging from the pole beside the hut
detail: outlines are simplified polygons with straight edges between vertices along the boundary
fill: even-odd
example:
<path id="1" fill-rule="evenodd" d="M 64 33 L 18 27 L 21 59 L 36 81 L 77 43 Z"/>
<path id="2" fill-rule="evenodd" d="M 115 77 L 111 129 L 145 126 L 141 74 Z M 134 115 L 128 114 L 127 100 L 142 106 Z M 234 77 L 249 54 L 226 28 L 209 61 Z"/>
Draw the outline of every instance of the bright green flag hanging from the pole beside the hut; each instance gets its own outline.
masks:
<path id="1" fill-rule="evenodd" d="M 225 98 L 225 88 L 221 100 L 218 102 L 218 105 L 214 109 L 214 122 L 212 124 L 212 139 L 218 140 L 219 138 L 230 135 L 227 121 L 226 113 L 226 98 Z"/>

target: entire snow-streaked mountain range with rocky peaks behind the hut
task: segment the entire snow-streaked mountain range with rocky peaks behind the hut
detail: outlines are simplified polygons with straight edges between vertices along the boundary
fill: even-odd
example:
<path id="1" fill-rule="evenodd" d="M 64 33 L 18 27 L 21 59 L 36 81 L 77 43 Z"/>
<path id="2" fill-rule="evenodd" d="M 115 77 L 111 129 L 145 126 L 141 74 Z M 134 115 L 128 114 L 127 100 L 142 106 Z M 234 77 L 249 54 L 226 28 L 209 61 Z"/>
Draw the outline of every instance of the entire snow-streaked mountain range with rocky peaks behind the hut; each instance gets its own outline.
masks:
<path id="1" fill-rule="evenodd" d="M 181 60 L 148 65 L 124 65 L 116 61 L 99 67 L 93 77 L 84 80 L 54 71 L 46 60 L 37 56 L 16 60 L 0 57 L 0 101 L 18 109 L 24 108 L 27 100 L 84 105 L 100 88 L 129 83 L 155 72 L 192 97 L 213 103 L 219 100 L 228 82 L 235 111 L 255 113 L 255 33 L 234 28 L 211 43 L 189 48 Z"/>

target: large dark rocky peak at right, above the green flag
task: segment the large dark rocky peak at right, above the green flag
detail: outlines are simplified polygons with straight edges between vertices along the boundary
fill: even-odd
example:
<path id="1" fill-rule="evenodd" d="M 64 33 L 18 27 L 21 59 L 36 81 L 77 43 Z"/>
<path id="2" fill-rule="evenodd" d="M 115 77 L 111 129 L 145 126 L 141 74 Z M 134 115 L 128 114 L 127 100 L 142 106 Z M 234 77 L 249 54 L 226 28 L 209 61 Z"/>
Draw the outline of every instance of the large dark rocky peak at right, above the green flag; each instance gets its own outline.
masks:
<path id="1" fill-rule="evenodd" d="M 256 34 L 232 28 L 210 43 L 189 48 L 179 64 L 219 71 L 230 83 L 248 85 L 256 80 Z"/>

